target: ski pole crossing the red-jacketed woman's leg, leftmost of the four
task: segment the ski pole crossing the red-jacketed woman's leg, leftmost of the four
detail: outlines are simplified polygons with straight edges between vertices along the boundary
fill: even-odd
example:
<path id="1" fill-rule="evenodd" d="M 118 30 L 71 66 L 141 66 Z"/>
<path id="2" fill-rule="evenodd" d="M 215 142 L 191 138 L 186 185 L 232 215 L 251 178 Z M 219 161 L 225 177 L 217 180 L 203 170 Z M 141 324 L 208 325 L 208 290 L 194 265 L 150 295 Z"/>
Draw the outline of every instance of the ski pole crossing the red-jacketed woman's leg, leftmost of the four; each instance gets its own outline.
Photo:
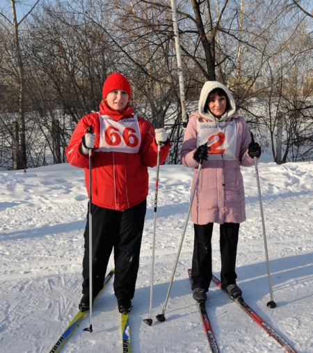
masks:
<path id="1" fill-rule="evenodd" d="M 93 126 L 88 126 L 88 133 L 93 133 Z M 93 216 L 91 215 L 91 202 L 92 202 L 92 156 L 91 152 L 93 149 L 88 150 L 89 156 L 89 315 L 90 315 L 90 324 L 89 327 L 83 329 L 83 331 L 89 331 L 90 334 L 93 332 Z"/>

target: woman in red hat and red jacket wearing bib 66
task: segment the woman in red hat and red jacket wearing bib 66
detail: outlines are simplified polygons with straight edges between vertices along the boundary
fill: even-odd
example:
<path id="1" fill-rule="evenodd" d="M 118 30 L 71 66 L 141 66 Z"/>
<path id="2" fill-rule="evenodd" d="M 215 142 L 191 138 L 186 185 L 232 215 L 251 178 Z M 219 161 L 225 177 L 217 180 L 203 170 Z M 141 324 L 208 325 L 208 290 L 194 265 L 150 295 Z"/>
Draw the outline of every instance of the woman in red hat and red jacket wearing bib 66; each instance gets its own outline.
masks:
<path id="1" fill-rule="evenodd" d="M 81 118 L 66 149 L 67 161 L 85 168 L 89 190 L 89 149 L 92 149 L 93 299 L 102 289 L 114 249 L 114 292 L 120 312 L 131 310 L 139 268 L 141 238 L 148 194 L 147 167 L 166 161 L 170 142 L 164 129 L 134 114 L 129 105 L 131 86 L 122 74 L 108 76 L 99 113 Z M 92 126 L 93 133 L 88 132 Z M 89 220 L 84 232 L 83 297 L 81 311 L 89 309 Z"/>

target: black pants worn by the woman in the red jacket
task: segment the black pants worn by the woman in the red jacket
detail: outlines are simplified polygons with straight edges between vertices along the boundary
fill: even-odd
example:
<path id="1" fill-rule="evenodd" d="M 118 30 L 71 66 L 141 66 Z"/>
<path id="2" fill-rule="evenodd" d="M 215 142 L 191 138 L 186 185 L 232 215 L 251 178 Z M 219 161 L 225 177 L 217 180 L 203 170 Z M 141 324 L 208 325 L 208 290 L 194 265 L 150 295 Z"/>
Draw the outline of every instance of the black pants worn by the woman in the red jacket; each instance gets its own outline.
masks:
<path id="1" fill-rule="evenodd" d="M 118 299 L 132 299 L 141 252 L 146 200 L 125 211 L 115 211 L 92 204 L 93 220 L 93 291 L 103 287 L 106 268 L 114 248 L 114 292 Z M 89 213 L 83 256 L 83 294 L 89 293 Z"/>

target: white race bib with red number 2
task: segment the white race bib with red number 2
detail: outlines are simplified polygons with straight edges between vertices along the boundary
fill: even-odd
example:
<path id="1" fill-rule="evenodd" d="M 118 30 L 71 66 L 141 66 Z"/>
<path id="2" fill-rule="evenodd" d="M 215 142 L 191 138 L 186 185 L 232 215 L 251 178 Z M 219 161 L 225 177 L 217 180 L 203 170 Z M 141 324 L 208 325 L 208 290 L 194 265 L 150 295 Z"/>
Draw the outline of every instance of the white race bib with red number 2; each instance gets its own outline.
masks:
<path id="1" fill-rule="evenodd" d="M 197 147 L 207 142 L 208 160 L 236 160 L 236 122 L 197 122 Z"/>

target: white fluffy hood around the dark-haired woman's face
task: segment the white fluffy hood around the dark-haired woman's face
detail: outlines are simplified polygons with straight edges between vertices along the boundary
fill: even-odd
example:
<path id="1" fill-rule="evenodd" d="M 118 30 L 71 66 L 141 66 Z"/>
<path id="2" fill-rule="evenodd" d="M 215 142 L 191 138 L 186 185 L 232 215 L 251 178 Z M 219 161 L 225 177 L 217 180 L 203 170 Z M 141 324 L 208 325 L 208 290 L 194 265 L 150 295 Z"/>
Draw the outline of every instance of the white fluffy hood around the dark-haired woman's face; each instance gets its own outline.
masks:
<path id="1" fill-rule="evenodd" d="M 222 90 L 225 91 L 228 97 L 228 100 L 230 101 L 230 107 L 231 107 L 230 110 L 225 111 L 224 115 L 220 117 L 220 119 L 217 119 L 216 117 L 214 117 L 214 115 L 211 114 L 209 110 L 207 110 L 207 113 L 204 112 L 204 106 L 205 106 L 205 102 L 207 101 L 207 97 L 212 90 L 215 90 L 215 88 L 222 88 Z M 227 119 L 227 117 L 230 117 L 235 113 L 236 104 L 235 104 L 234 98 L 232 97 L 232 93 L 230 93 L 230 90 L 225 85 L 223 85 L 223 83 L 220 83 L 218 81 L 207 81 L 204 83 L 200 93 L 198 109 L 199 109 L 200 115 L 204 119 L 223 122 Z"/>

